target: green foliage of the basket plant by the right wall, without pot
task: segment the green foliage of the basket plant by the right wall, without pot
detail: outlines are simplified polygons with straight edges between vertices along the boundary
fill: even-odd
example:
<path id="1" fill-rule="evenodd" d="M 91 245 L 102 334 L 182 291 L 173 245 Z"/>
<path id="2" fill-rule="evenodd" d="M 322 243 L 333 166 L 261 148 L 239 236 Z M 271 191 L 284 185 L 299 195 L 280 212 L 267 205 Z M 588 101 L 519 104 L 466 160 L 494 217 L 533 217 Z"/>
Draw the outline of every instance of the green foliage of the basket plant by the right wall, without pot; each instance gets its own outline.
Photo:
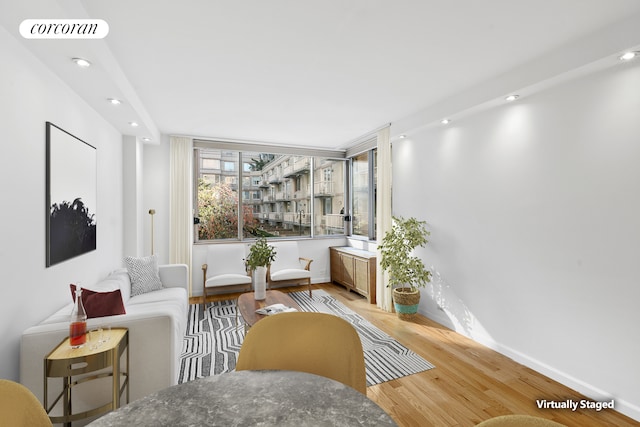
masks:
<path id="1" fill-rule="evenodd" d="M 378 249 L 382 258 L 380 266 L 389 273 L 388 287 L 409 287 L 415 292 L 431 281 L 431 271 L 427 270 L 420 258 L 413 255 L 418 246 L 428 243 L 426 221 L 416 218 L 393 217 L 391 230 L 387 231 Z"/>

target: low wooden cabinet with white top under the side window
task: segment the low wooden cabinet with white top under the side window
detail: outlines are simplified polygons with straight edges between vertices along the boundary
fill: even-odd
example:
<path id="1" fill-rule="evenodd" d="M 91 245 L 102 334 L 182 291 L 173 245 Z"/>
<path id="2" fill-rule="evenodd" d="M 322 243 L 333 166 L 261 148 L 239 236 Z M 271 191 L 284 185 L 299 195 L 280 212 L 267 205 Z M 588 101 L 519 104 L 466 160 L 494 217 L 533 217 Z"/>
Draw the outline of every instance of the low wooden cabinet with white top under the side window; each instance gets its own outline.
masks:
<path id="1" fill-rule="evenodd" d="M 331 281 L 376 303 L 376 254 L 350 246 L 329 248 Z"/>

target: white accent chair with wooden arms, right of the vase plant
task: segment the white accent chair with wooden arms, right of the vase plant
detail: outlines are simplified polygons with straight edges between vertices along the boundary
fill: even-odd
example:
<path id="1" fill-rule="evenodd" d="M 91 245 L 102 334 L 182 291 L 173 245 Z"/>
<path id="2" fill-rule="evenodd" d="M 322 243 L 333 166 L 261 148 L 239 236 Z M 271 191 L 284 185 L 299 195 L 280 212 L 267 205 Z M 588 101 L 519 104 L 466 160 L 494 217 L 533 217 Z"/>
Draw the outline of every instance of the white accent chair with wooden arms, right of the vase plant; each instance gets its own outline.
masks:
<path id="1" fill-rule="evenodd" d="M 267 268 L 267 287 L 280 283 L 307 284 L 311 296 L 312 259 L 299 254 L 298 242 L 269 242 L 276 248 L 276 259 Z"/>

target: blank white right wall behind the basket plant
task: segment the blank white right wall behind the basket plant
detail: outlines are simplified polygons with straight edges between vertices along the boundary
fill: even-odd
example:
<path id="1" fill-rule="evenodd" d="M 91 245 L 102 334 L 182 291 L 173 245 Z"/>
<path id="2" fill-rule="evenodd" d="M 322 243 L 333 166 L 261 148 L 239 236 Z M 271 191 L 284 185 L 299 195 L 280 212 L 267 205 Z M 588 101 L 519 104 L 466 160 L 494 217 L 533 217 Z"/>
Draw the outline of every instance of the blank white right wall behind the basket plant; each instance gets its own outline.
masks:
<path id="1" fill-rule="evenodd" d="M 620 65 L 393 146 L 440 274 L 420 311 L 636 419 L 639 94 Z"/>

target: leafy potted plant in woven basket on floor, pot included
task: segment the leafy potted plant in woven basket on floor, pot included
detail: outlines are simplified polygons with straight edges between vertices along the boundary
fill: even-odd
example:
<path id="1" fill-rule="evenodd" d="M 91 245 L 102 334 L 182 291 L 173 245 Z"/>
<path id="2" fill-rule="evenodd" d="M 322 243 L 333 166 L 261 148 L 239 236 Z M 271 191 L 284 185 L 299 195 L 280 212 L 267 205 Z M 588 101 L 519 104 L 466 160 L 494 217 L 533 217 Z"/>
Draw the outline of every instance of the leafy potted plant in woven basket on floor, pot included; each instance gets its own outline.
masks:
<path id="1" fill-rule="evenodd" d="M 378 245 L 380 266 L 389 273 L 387 286 L 393 288 L 394 307 L 400 319 L 411 319 L 418 312 L 419 288 L 431 281 L 431 271 L 413 255 L 415 248 L 424 247 L 429 235 L 426 221 L 394 216 L 391 230 Z"/>

